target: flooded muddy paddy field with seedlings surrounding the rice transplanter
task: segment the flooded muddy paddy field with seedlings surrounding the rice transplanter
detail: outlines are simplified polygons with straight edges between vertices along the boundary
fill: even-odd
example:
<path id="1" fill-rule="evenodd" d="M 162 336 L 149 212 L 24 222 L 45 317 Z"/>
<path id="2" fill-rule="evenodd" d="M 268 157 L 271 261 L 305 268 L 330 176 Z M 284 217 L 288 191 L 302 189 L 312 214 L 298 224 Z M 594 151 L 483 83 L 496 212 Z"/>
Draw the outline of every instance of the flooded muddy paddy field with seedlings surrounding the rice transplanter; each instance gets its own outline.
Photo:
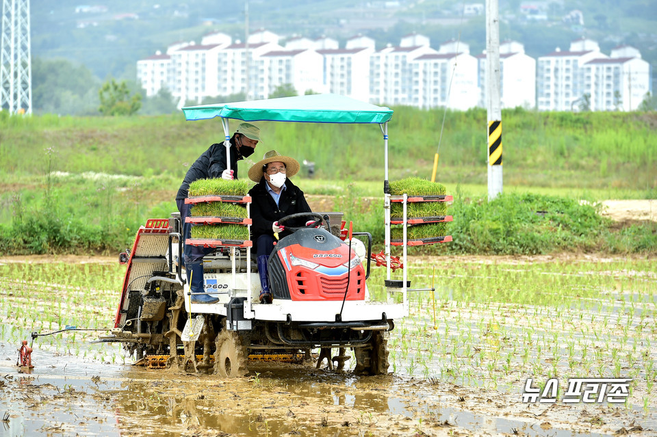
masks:
<path id="1" fill-rule="evenodd" d="M 352 358 L 345 371 L 249 362 L 227 380 L 134 367 L 119 345 L 91 343 L 114 322 L 114 259 L 3 260 L 0 435 L 657 435 L 655 259 L 412 261 L 412 286 L 436 291 L 396 321 L 389 375 L 356 376 Z M 88 331 L 31 341 L 66 326 Z M 31 373 L 16 367 L 22 340 Z M 631 381 L 623 402 L 565 402 L 576 378 Z"/>

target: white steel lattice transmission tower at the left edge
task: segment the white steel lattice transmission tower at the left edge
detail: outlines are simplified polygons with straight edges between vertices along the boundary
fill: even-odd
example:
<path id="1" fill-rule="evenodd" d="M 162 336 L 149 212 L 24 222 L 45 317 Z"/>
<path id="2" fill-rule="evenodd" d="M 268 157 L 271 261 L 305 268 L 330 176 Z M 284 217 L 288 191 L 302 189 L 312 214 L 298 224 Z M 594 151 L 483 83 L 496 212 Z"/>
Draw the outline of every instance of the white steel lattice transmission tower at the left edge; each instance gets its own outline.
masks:
<path id="1" fill-rule="evenodd" d="M 2 0 L 0 109 L 7 109 L 10 114 L 32 112 L 29 52 L 29 0 Z"/>

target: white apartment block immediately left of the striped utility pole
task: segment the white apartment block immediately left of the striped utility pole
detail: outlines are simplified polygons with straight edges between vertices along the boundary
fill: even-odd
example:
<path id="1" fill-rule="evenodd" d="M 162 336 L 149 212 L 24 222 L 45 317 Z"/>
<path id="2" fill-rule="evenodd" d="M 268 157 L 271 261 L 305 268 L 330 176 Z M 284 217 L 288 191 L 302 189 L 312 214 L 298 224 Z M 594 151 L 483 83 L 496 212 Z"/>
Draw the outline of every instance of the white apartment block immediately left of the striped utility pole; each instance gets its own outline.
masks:
<path id="1" fill-rule="evenodd" d="M 411 105 L 466 110 L 477 105 L 477 59 L 468 44 L 448 41 L 411 62 Z"/>

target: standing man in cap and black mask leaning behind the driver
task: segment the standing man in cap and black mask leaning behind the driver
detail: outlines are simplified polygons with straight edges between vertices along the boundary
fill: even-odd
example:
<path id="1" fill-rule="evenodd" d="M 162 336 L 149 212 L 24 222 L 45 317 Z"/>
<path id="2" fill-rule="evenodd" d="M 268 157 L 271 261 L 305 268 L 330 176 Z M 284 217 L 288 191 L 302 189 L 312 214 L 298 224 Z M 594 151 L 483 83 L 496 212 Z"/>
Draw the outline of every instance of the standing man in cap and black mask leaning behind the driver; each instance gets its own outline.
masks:
<path id="1" fill-rule="evenodd" d="M 260 129 L 250 123 L 242 123 L 237 127 L 233 137 L 231 137 L 230 158 L 231 170 L 228 170 L 226 160 L 226 146 L 224 143 L 212 144 L 205 153 L 198 157 L 185 174 L 185 179 L 178 189 L 176 204 L 180 211 L 180 220 L 183 224 L 183 242 L 190 238 L 190 229 L 192 225 L 185 223 L 185 217 L 190 216 L 190 207 L 185 204 L 185 198 L 188 196 L 190 183 L 198 179 L 222 178 L 227 181 L 237 179 L 237 161 L 244 159 L 253 154 L 255 146 L 260 140 Z M 187 280 L 190 281 L 192 293 L 203 293 L 205 283 L 203 280 L 203 256 L 205 250 L 198 246 L 184 246 L 183 259 L 185 262 L 185 272 Z M 197 304 L 214 304 L 218 302 L 218 297 L 211 297 L 203 294 L 192 294 L 192 302 Z"/>

